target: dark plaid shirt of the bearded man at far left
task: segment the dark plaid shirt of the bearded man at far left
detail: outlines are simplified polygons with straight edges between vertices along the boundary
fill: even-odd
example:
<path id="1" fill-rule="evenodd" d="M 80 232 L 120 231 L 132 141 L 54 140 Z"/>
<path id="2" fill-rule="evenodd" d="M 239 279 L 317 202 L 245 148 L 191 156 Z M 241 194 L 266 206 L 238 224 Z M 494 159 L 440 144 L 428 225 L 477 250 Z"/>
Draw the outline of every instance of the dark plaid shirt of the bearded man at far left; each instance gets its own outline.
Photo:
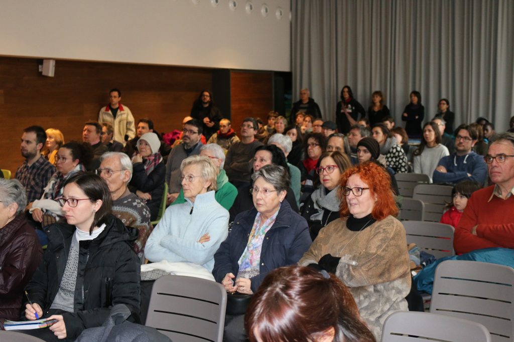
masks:
<path id="1" fill-rule="evenodd" d="M 27 190 L 28 203 L 41 198 L 54 172 L 56 172 L 56 168 L 48 163 L 48 160 L 43 156 L 40 156 L 31 166 L 29 166 L 27 160 L 25 160 L 25 162 L 17 168 L 15 178 L 19 180 L 25 187 L 25 190 Z"/>

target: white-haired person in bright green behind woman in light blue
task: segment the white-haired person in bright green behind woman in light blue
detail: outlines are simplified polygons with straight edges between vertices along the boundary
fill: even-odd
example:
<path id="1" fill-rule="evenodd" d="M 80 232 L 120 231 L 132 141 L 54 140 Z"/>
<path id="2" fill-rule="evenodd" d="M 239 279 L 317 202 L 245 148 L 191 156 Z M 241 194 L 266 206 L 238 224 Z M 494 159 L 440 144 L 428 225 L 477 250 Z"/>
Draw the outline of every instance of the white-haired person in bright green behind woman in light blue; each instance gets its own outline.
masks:
<path id="1" fill-rule="evenodd" d="M 223 208 L 230 210 L 237 196 L 237 188 L 228 181 L 228 176 L 223 166 L 225 165 L 225 152 L 223 147 L 217 144 L 207 144 L 200 147 L 200 155 L 211 158 L 212 162 L 218 167 L 218 175 L 216 178 L 217 189 L 214 198 L 222 205 Z M 184 191 L 180 189 L 177 199 L 171 205 L 185 203 Z"/>

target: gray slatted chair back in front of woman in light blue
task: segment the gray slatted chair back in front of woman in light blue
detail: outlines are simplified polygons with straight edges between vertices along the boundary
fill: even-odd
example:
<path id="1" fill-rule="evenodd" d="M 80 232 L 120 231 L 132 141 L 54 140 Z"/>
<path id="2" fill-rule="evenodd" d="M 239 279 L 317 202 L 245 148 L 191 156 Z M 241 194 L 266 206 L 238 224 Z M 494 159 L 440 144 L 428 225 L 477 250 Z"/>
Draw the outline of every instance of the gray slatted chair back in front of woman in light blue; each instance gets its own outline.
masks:
<path id="1" fill-rule="evenodd" d="M 227 292 L 211 280 L 167 275 L 155 280 L 146 326 L 173 341 L 222 342 Z"/>

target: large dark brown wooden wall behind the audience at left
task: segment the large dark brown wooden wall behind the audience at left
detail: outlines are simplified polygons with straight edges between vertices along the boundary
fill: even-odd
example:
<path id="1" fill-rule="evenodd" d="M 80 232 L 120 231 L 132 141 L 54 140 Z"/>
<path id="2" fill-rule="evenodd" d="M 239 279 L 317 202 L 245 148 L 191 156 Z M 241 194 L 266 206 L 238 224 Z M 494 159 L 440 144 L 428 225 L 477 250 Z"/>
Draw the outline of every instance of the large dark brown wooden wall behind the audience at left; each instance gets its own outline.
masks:
<path id="1" fill-rule="evenodd" d="M 23 162 L 20 137 L 27 126 L 58 128 L 66 141 L 80 140 L 83 123 L 98 118 L 115 87 L 136 122 L 150 117 L 167 132 L 180 129 L 199 92 L 212 87 L 212 70 L 58 60 L 55 77 L 45 77 L 36 59 L 0 57 L 0 168 L 14 172 Z"/>

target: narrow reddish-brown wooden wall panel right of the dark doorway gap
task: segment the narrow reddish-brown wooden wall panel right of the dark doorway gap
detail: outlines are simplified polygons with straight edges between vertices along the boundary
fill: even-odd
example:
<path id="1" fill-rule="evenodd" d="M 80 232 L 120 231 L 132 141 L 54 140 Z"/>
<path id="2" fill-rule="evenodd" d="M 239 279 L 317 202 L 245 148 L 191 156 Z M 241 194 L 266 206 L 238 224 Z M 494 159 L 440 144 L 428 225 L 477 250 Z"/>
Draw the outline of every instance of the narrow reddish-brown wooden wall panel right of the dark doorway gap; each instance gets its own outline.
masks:
<path id="1" fill-rule="evenodd" d="M 260 117 L 267 123 L 273 109 L 273 73 L 271 71 L 231 71 L 231 121 L 236 132 L 245 117 Z"/>

